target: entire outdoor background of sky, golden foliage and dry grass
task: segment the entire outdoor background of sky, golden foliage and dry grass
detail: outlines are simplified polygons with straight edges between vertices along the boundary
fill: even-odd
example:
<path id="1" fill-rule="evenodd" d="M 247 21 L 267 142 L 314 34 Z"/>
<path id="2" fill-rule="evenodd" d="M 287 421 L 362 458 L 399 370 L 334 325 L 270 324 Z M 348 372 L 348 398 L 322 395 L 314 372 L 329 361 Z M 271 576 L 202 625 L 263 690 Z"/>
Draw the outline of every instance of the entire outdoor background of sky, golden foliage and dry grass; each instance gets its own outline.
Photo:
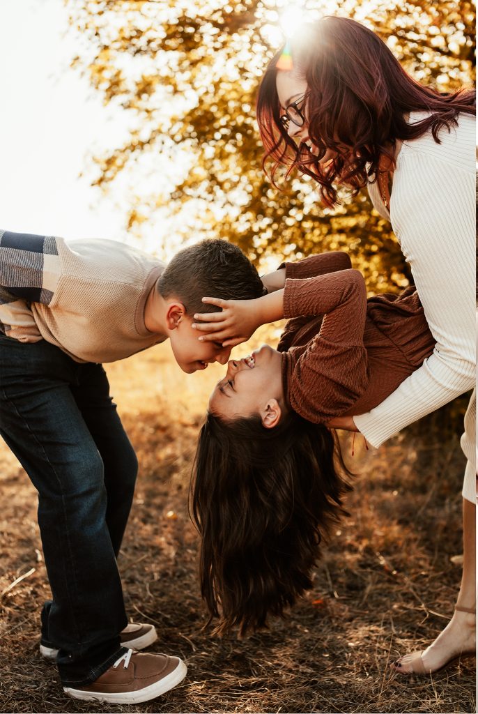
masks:
<path id="1" fill-rule="evenodd" d="M 260 271 L 284 257 L 345 248 L 370 293 L 410 281 L 390 226 L 365 193 L 324 210 L 310 181 L 283 191 L 261 169 L 258 81 L 304 16 L 343 14 L 377 31 L 419 80 L 452 91 L 474 81 L 468 2 L 8 0 L 0 3 L 2 227 L 103 237 L 159 258 L 203 237 L 238 243 Z M 238 348 L 247 353 L 278 328 Z M 425 646 L 452 613 L 460 577 L 459 448 L 466 399 L 379 451 L 348 435 L 357 476 L 317 565 L 313 590 L 285 622 L 247 640 L 201 630 L 198 539 L 187 494 L 207 395 L 223 368 L 185 377 L 168 344 L 107 366 L 140 461 L 119 567 L 128 613 L 156 623 L 156 649 L 190 675 L 138 707 L 63 696 L 40 660 L 49 596 L 36 493 L 0 443 L 0 710 L 11 712 L 472 712 L 472 665 L 426 680 L 387 665 Z M 156 646 L 156 645 L 155 645 Z"/>

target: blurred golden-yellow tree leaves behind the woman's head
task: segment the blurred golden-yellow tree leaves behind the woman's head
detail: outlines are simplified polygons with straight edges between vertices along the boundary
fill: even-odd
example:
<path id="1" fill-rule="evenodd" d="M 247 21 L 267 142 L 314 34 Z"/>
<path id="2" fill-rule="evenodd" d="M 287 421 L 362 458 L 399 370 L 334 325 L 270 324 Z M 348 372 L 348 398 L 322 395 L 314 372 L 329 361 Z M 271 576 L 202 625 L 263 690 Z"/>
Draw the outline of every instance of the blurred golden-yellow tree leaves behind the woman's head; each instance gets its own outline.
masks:
<path id="1" fill-rule="evenodd" d="M 374 291 L 407 284 L 390 225 L 365 192 L 324 209 L 311 181 L 284 191 L 263 174 L 255 123 L 260 76 L 282 42 L 285 0 L 65 0 L 81 46 L 72 66 L 105 104 L 128 113 L 127 140 L 93 157 L 91 181 L 133 186 L 128 230 L 176 216 L 189 241 L 222 236 L 250 258 L 347 248 Z M 451 91 L 473 79 L 474 7 L 422 0 L 306 0 L 311 16 L 364 22 L 424 84 Z M 170 176 L 156 188 L 155 176 Z M 166 213 L 165 213 L 166 210 Z M 158 229 L 161 233 L 161 228 Z M 158 246 L 161 239 L 158 239 Z"/>

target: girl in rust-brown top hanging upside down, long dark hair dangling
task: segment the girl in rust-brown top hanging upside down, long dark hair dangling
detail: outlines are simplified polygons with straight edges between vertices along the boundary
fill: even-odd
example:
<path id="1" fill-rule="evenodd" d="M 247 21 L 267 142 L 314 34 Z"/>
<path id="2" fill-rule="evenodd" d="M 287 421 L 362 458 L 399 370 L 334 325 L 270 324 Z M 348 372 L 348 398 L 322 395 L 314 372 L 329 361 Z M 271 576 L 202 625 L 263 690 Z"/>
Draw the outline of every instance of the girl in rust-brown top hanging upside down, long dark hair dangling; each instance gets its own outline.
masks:
<path id="1" fill-rule="evenodd" d="M 260 627 L 311 586 L 349 488 L 327 424 L 382 402 L 434 347 L 415 288 L 367 301 L 346 253 L 288 263 L 273 281 L 281 289 L 256 300 L 207 298 L 223 308 L 209 326 L 235 343 L 291 318 L 278 350 L 230 361 L 200 432 L 193 514 L 219 631 Z"/>

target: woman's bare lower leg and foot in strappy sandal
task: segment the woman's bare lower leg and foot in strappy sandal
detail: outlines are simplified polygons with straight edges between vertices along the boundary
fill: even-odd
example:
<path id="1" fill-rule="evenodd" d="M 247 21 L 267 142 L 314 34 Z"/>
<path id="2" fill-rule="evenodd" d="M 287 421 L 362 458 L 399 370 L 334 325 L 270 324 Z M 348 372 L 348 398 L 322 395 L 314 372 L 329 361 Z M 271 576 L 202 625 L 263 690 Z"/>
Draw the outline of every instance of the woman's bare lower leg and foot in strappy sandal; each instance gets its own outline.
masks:
<path id="1" fill-rule="evenodd" d="M 474 609 L 476 604 L 476 507 L 474 503 L 463 499 L 463 574 L 459 589 L 457 606 Z M 442 633 L 421 654 L 426 673 L 434 672 L 446 665 L 449 660 L 461 653 L 474 652 L 476 615 L 455 610 L 452 619 Z M 392 668 L 403 674 L 422 674 L 417 663 L 417 653 L 410 653 L 400 658 Z"/>

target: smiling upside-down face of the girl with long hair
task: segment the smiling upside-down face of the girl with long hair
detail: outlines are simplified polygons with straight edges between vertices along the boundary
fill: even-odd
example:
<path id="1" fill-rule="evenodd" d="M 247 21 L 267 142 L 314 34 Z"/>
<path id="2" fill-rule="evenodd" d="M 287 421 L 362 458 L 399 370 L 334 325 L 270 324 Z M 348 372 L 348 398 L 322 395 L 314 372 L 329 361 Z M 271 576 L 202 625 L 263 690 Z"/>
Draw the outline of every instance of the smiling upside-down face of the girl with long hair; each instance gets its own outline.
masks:
<path id="1" fill-rule="evenodd" d="M 269 403 L 283 404 L 282 355 L 268 345 L 241 360 L 230 360 L 225 378 L 209 399 L 209 411 L 220 418 L 252 416 Z"/>

